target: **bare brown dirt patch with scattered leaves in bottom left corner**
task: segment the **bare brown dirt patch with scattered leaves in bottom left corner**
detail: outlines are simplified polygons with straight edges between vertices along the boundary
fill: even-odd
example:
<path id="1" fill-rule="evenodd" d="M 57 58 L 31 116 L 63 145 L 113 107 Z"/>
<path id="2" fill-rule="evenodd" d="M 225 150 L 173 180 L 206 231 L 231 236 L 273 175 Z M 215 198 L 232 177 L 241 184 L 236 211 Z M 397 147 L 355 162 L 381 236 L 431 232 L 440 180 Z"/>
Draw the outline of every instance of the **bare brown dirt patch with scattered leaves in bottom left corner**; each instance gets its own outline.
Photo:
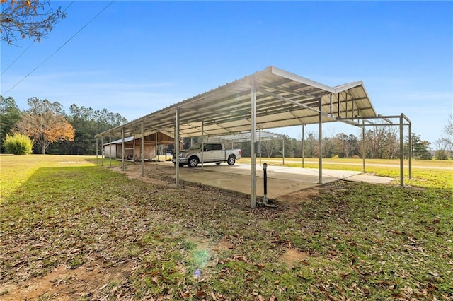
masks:
<path id="1" fill-rule="evenodd" d="M 0 300 L 74 300 L 83 297 L 96 299 L 105 295 L 105 290 L 115 292 L 115 285 L 111 283 L 120 285 L 132 271 L 132 262 L 114 267 L 105 267 L 102 261 L 93 261 L 74 269 L 57 266 L 40 278 L 2 285 Z"/>

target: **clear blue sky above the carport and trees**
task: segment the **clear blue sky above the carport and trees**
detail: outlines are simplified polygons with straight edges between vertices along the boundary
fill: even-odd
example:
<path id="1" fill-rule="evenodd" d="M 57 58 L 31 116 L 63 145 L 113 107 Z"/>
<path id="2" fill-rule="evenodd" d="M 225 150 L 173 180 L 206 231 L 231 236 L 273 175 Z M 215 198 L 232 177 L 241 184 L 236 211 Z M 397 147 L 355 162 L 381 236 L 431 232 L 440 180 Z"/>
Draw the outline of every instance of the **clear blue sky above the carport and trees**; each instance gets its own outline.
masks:
<path id="1" fill-rule="evenodd" d="M 38 97 L 61 103 L 68 113 L 76 103 L 131 121 L 276 66 L 326 85 L 363 81 L 379 114 L 403 112 L 413 132 L 430 142 L 453 114 L 453 2 L 108 4 L 52 1 L 69 6 L 67 18 L 13 65 L 31 41 L 2 41 L 1 95 L 12 96 L 22 110 L 28 98 Z M 274 131 L 299 138 L 301 129 Z M 317 126 L 307 126 L 310 131 Z M 358 135 L 360 129 L 335 123 L 323 132 Z"/>

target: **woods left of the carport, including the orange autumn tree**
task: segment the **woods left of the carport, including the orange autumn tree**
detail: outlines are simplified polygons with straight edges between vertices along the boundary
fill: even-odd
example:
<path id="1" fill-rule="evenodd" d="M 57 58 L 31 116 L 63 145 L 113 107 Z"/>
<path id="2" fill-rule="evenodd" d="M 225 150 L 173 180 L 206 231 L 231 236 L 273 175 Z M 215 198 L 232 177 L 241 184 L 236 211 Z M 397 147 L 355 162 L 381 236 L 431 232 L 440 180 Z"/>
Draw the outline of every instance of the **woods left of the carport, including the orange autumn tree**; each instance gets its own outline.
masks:
<path id="1" fill-rule="evenodd" d="M 28 110 L 21 111 L 12 97 L 0 95 L 0 152 L 5 139 L 23 134 L 33 140 L 33 153 L 95 155 L 94 135 L 127 123 L 121 114 L 107 109 L 71 105 L 69 114 L 59 102 L 28 99 Z"/>

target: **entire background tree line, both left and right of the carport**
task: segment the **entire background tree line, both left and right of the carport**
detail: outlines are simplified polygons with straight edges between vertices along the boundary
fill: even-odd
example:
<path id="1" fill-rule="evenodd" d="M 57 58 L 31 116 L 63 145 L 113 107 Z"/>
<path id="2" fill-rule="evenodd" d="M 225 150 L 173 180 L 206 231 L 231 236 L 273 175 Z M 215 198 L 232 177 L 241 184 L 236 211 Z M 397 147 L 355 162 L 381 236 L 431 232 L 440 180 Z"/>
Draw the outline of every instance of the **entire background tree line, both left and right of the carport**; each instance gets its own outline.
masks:
<path id="1" fill-rule="evenodd" d="M 25 134 L 33 139 L 33 153 L 67 155 L 95 155 L 94 136 L 115 126 L 127 123 L 121 114 L 107 109 L 93 110 L 91 107 L 69 107 L 69 114 L 59 102 L 30 98 L 28 110 L 21 111 L 12 97 L 0 95 L 0 146 L 5 152 L 4 139 L 13 133 Z M 434 157 L 440 160 L 453 158 L 453 117 L 450 116 L 444 128 L 444 136 L 435 141 L 437 147 Z M 304 138 L 304 157 L 319 157 L 318 135 L 309 132 Z M 211 138 L 213 139 L 213 138 Z M 362 135 L 336 134 L 324 136 L 322 141 L 323 158 L 362 158 Z M 408 157 L 408 137 L 404 141 L 404 156 Z M 285 154 L 283 143 L 285 141 Z M 187 143 L 190 142 L 185 141 Z M 197 138 L 195 138 L 195 143 Z M 229 145 L 231 141 L 224 141 Z M 244 156 L 251 155 L 251 144 L 234 143 L 240 147 Z M 412 154 L 415 159 L 430 159 L 433 152 L 430 142 L 412 133 Z M 261 141 L 261 155 L 270 158 L 301 158 L 302 138 L 282 135 L 282 139 Z M 400 156 L 399 133 L 394 126 L 374 126 L 365 131 L 365 158 L 394 159 Z"/>

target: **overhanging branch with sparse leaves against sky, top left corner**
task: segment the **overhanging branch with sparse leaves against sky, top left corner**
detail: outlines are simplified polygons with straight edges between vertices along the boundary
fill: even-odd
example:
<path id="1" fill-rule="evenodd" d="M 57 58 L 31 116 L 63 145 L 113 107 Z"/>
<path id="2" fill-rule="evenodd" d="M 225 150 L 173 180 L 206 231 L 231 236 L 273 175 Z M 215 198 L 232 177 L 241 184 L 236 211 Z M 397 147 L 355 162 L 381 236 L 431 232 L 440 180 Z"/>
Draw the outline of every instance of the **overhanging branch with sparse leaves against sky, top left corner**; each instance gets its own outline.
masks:
<path id="1" fill-rule="evenodd" d="M 49 0 L 0 0 L 0 4 L 1 40 L 8 45 L 25 37 L 40 42 L 66 16 L 61 8 L 52 8 Z"/>

